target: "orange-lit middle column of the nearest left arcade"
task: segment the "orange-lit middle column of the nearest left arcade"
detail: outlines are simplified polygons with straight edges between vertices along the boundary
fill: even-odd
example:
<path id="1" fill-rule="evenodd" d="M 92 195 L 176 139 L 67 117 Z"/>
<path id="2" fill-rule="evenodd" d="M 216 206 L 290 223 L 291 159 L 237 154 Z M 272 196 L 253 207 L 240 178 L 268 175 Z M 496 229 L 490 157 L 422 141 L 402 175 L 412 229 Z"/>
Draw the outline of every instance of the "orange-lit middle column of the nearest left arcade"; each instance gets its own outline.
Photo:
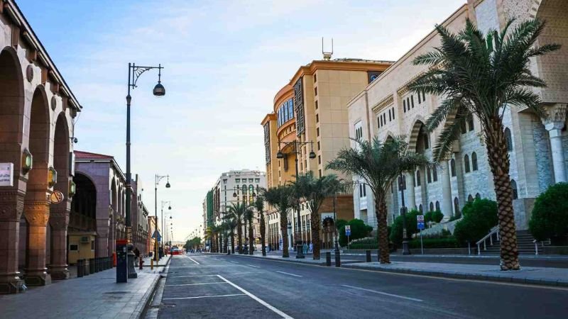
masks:
<path id="1" fill-rule="evenodd" d="M 28 220 L 27 264 L 24 279 L 28 286 L 51 284 L 45 268 L 45 237 L 50 203 L 45 191 L 28 191 L 23 203 L 23 214 Z"/>

